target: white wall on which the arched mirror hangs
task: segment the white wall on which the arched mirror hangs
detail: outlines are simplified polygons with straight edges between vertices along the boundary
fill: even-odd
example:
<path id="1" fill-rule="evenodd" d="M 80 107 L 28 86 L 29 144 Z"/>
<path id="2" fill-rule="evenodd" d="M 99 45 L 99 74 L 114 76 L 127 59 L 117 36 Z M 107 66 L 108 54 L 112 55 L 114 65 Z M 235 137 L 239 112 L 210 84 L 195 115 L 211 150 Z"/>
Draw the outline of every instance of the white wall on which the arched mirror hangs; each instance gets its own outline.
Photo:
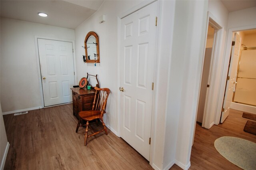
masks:
<path id="1" fill-rule="evenodd" d="M 117 18 L 122 14 L 140 4 L 142 1 L 105 1 L 98 12 L 84 21 L 75 29 L 76 43 L 76 70 L 78 81 L 86 76 L 86 73 L 96 75 L 100 81 L 100 87 L 108 87 L 111 91 L 108 98 L 108 114 L 104 120 L 115 133 L 117 133 L 117 93 L 118 87 L 118 34 Z M 99 23 L 99 17 L 106 15 L 106 22 Z M 100 63 L 84 63 L 82 55 L 85 55 L 84 39 L 90 31 L 99 36 Z"/>

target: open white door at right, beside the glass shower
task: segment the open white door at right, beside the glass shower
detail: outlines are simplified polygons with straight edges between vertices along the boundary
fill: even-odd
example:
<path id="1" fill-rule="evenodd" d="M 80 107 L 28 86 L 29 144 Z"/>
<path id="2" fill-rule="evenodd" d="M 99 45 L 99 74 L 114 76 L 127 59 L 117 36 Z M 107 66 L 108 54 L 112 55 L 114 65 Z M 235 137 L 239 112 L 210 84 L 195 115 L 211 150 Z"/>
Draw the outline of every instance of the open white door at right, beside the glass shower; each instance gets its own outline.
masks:
<path id="1" fill-rule="evenodd" d="M 224 96 L 224 102 L 223 102 L 223 108 L 222 110 L 220 123 L 223 123 L 225 119 L 228 117 L 229 110 L 230 110 L 230 104 L 232 102 L 233 98 L 233 89 L 236 87 L 236 76 L 237 76 L 237 66 L 239 61 L 239 53 L 240 53 L 240 47 L 241 47 L 241 38 L 239 34 L 235 33 L 233 42 L 235 42 L 234 45 L 232 45 L 232 51 L 231 51 L 231 58 L 229 63 L 229 69 L 228 69 L 228 79 L 226 83 L 226 91 Z"/>

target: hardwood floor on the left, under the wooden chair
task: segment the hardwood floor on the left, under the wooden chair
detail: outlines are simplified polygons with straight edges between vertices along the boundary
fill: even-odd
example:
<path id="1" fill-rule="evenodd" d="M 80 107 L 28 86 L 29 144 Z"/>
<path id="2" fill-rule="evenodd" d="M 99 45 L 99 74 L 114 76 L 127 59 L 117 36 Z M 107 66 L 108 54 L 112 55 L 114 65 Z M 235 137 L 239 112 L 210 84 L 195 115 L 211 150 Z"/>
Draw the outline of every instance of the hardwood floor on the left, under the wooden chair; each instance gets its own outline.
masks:
<path id="1" fill-rule="evenodd" d="M 110 130 L 88 138 L 76 133 L 72 104 L 4 115 L 10 148 L 5 170 L 144 170 L 149 162 Z M 97 128 L 94 125 L 94 128 Z"/>

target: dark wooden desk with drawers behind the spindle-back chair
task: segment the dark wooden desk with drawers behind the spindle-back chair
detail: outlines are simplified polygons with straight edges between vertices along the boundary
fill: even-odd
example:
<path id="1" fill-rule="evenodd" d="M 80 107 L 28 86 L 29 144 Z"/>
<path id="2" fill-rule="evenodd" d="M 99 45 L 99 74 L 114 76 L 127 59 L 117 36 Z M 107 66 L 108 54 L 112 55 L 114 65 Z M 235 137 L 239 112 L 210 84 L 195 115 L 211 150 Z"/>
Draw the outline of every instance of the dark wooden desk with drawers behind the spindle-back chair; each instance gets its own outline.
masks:
<path id="1" fill-rule="evenodd" d="M 95 90 L 81 89 L 80 87 L 71 88 L 73 95 L 73 115 L 80 119 L 78 113 L 92 109 Z"/>

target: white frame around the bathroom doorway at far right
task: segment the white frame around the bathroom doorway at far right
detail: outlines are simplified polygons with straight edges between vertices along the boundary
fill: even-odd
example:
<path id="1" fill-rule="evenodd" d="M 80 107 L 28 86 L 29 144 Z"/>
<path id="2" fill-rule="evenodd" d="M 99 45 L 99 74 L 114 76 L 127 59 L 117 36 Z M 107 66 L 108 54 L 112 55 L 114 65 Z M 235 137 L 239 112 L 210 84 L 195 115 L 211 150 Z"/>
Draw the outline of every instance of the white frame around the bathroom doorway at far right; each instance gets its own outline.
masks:
<path id="1" fill-rule="evenodd" d="M 219 93 L 218 93 L 218 99 L 217 99 L 217 110 L 216 110 L 216 115 L 215 115 L 215 124 L 218 125 L 220 123 L 220 117 L 221 117 L 221 110 L 222 110 L 222 102 L 224 99 L 224 94 L 225 94 L 225 87 L 226 87 L 226 77 L 228 74 L 228 63 L 229 63 L 229 57 L 230 57 L 230 51 L 232 47 L 232 38 L 233 38 L 233 33 L 234 32 L 239 32 L 239 31 L 245 31 L 245 30 L 252 30 L 256 29 L 256 25 L 251 25 L 251 26 L 242 26 L 242 27 L 237 27 L 237 28 L 229 28 L 227 33 L 227 39 L 226 39 L 226 49 L 224 53 L 224 60 L 222 61 L 222 68 L 221 68 L 221 73 L 222 77 L 220 79 L 220 85 L 219 85 Z"/>

